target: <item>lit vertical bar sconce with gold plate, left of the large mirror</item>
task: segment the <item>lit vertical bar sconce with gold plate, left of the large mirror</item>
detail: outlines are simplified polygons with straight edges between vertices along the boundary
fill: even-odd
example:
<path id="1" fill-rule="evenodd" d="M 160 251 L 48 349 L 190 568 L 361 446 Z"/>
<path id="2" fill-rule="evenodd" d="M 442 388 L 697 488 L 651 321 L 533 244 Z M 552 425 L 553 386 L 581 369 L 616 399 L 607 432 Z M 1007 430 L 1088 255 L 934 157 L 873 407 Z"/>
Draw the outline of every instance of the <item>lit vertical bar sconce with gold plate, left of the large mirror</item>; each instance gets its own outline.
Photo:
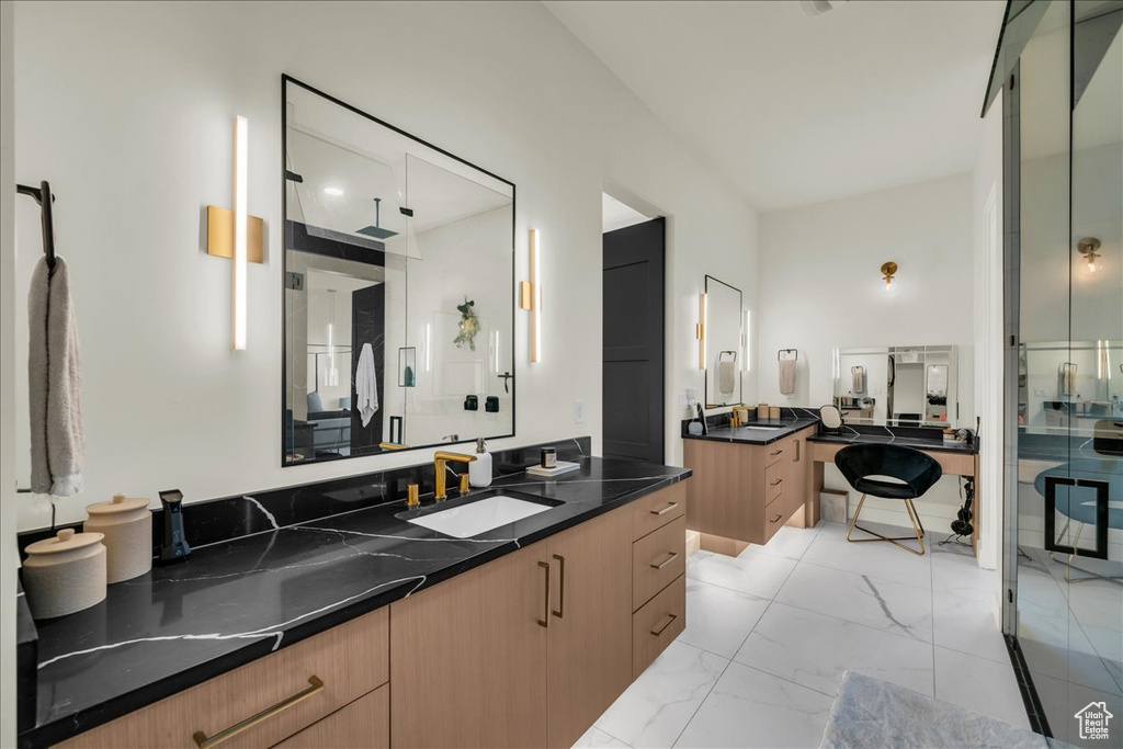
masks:
<path id="1" fill-rule="evenodd" d="M 246 268 L 262 263 L 265 222 L 248 213 L 249 122 L 234 120 L 234 210 L 207 207 L 207 254 L 234 261 L 231 274 L 230 328 L 235 350 L 246 348 Z"/>

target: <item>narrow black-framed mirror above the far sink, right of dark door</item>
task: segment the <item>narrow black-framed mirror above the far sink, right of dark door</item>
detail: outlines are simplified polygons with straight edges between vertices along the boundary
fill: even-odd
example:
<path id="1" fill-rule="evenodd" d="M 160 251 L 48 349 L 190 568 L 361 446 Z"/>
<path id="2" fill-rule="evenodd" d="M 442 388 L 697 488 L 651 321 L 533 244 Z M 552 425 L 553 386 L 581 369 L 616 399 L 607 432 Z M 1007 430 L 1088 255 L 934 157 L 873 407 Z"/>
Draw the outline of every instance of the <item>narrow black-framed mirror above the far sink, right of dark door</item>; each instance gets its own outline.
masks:
<path id="1" fill-rule="evenodd" d="M 707 409 L 741 404 L 741 290 L 713 276 L 705 277 L 703 356 Z"/>

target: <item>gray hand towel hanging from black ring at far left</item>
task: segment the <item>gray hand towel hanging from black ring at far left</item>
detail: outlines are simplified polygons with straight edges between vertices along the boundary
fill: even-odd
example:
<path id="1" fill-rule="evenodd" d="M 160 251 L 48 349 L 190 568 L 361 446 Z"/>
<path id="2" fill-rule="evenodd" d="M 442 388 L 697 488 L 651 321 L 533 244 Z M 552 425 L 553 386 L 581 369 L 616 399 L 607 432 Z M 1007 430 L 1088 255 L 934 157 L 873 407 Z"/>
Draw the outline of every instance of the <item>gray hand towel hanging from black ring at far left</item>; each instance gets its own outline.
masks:
<path id="1" fill-rule="evenodd" d="M 31 417 L 31 491 L 73 496 L 82 491 L 82 368 L 70 272 L 39 259 L 27 296 L 28 410 Z"/>

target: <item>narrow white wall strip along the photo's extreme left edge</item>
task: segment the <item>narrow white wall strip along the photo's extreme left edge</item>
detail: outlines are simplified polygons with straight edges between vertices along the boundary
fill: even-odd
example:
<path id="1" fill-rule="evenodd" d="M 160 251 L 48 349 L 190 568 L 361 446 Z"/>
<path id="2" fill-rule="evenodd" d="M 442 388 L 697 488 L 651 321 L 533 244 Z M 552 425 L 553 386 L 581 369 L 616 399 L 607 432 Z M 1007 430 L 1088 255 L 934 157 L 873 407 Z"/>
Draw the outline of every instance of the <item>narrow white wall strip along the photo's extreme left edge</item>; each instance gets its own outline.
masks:
<path id="1" fill-rule="evenodd" d="M 16 246 L 12 4 L 0 2 L 0 747 L 16 746 Z M 20 198 L 20 200 L 27 200 Z"/>

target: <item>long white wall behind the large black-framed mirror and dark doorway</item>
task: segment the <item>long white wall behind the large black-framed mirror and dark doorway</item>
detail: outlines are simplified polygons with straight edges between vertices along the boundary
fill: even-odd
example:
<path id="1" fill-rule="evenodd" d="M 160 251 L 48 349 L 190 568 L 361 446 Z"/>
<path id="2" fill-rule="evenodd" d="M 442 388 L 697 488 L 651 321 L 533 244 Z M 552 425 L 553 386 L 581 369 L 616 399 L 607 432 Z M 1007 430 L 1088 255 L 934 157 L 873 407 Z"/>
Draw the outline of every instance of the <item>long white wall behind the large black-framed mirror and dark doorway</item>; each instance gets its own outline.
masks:
<path id="1" fill-rule="evenodd" d="M 599 449 L 601 194 L 622 186 L 659 208 L 667 460 L 681 460 L 676 394 L 702 389 L 696 294 L 710 273 L 756 307 L 756 219 L 538 3 L 18 2 L 15 25 L 16 176 L 57 189 L 83 346 L 86 492 L 61 520 L 117 491 L 202 500 L 431 457 L 281 468 L 282 72 L 518 185 L 519 277 L 527 229 L 541 231 L 544 360 L 529 364 L 520 312 L 518 437 L 495 448 L 591 433 Z M 267 229 L 238 354 L 229 264 L 200 248 L 202 207 L 230 203 L 235 115 L 249 118 L 249 210 Z M 34 207 L 17 220 L 20 246 L 37 246 Z M 47 522 L 42 504 L 19 512 L 21 527 Z"/>

